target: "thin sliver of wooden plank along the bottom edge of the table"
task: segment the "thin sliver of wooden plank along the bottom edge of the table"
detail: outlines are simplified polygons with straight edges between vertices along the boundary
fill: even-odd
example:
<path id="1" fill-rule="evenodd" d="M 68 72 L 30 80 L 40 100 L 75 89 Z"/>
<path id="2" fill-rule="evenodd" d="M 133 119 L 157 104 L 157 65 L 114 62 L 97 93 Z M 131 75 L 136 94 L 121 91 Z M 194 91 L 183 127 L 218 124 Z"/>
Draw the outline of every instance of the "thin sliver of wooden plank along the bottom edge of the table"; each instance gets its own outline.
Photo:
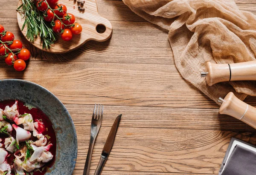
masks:
<path id="1" fill-rule="evenodd" d="M 82 175 L 82 169 L 75 169 L 73 175 Z M 90 175 L 94 175 L 94 170 L 90 171 Z M 134 172 L 134 171 L 108 171 L 103 170 L 101 175 L 212 175 L 212 174 L 191 174 L 191 173 L 166 173 L 166 172 Z"/>

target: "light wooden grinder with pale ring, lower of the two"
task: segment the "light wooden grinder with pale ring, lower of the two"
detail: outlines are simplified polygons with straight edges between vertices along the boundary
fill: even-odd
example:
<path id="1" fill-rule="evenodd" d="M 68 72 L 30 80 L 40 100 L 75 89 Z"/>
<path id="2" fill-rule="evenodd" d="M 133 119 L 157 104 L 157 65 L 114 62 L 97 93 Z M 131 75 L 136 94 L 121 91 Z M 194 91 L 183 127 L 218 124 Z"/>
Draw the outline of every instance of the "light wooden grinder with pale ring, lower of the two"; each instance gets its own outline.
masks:
<path id="1" fill-rule="evenodd" d="M 233 92 L 228 93 L 224 99 L 219 98 L 218 102 L 222 103 L 220 114 L 230 115 L 256 129 L 256 108 L 239 100 Z"/>

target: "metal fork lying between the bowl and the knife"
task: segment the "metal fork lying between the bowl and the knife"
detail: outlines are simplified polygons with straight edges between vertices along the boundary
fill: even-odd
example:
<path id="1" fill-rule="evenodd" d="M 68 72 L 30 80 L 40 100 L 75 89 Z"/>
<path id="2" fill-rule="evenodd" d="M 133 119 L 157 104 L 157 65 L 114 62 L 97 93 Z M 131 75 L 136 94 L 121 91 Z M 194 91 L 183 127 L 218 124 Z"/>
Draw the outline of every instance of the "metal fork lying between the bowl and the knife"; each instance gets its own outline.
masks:
<path id="1" fill-rule="evenodd" d="M 96 106 L 97 106 L 97 111 L 96 111 Z M 91 164 L 91 160 L 92 160 L 93 146 L 94 146 L 96 137 L 99 133 L 101 123 L 102 123 L 103 109 L 104 109 L 103 105 L 99 106 L 99 104 L 97 104 L 97 105 L 95 104 L 95 106 L 94 106 L 93 118 L 92 118 L 92 123 L 91 123 L 90 145 L 89 145 L 87 158 L 86 158 L 85 165 L 84 165 L 83 175 L 89 175 L 89 172 L 90 172 L 90 164 Z M 95 115 L 95 111 L 96 111 L 96 115 Z"/>

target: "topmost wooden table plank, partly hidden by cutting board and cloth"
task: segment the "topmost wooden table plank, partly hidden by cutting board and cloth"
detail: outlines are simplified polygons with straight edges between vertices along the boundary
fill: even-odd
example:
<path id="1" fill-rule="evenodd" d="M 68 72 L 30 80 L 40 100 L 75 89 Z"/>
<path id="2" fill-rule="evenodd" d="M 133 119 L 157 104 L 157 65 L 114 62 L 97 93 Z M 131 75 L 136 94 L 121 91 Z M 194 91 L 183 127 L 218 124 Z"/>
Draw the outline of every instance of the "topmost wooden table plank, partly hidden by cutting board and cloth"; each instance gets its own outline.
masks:
<path id="1" fill-rule="evenodd" d="M 13 0 L 12 3 L 3 1 L 7 3 L 0 4 L 0 18 L 17 18 L 17 6 L 14 4 L 17 4 L 18 0 Z M 239 9 L 256 14 L 256 0 L 236 0 L 236 3 Z M 99 14 L 110 21 L 146 21 L 132 12 L 121 0 L 97 0 L 97 5 Z"/>

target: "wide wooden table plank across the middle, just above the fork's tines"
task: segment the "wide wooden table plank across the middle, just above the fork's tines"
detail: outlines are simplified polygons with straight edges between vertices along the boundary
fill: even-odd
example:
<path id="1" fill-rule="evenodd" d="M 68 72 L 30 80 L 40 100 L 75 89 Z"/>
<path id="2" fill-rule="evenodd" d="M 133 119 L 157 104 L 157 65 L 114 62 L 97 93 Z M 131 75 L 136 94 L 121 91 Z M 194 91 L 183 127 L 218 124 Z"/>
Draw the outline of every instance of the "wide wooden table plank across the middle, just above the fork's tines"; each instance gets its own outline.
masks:
<path id="1" fill-rule="evenodd" d="M 17 72 L 1 60 L 0 71 L 0 79 L 38 83 L 63 103 L 218 108 L 174 65 L 32 60 L 26 71 Z"/>

